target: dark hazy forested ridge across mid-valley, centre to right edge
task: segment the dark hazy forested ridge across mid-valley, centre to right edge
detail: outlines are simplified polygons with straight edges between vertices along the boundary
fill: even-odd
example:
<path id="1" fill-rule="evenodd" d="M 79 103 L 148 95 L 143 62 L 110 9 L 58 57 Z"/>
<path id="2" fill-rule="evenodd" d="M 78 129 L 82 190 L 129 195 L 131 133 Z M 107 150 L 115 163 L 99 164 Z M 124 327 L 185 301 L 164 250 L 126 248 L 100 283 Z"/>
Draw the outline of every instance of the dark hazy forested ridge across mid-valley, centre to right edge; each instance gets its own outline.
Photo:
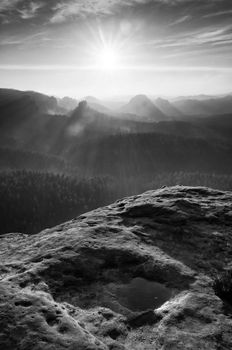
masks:
<path id="1" fill-rule="evenodd" d="M 232 171 L 232 147 L 224 143 L 173 135 L 129 134 L 89 139 L 69 145 L 66 156 L 84 175 L 149 177 L 164 171 Z"/>

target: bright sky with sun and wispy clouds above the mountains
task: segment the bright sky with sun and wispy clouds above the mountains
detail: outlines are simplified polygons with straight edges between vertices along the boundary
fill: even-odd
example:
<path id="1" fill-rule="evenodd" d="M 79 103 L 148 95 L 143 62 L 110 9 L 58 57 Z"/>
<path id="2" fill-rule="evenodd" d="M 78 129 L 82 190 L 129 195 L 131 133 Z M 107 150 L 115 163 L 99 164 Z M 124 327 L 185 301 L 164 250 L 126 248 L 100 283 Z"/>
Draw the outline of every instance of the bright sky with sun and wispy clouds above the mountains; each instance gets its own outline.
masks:
<path id="1" fill-rule="evenodd" d="M 231 0 L 0 0 L 0 87 L 232 92 Z"/>

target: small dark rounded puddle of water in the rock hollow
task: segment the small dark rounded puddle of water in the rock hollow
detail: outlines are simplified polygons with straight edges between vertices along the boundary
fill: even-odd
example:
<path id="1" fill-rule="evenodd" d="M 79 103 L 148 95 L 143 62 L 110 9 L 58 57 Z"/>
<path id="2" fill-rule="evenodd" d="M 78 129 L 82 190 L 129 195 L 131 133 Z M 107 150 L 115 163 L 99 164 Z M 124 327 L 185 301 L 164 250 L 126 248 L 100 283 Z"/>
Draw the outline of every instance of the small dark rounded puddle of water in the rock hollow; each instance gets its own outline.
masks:
<path id="1" fill-rule="evenodd" d="M 131 311 L 156 309 L 171 299 L 176 293 L 165 285 L 136 277 L 128 284 L 114 290 L 119 304 Z"/>

